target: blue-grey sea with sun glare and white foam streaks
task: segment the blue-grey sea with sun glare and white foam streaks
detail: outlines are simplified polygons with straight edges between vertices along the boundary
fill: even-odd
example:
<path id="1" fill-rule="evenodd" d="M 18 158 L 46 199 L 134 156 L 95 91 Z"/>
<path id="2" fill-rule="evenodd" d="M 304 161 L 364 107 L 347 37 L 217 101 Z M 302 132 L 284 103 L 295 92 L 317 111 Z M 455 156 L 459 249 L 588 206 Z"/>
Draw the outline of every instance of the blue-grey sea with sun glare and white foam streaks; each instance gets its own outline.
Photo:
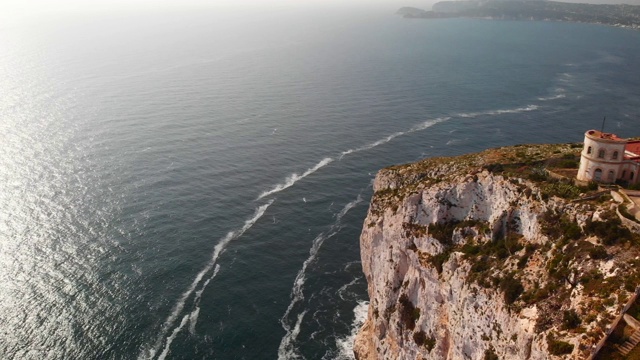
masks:
<path id="1" fill-rule="evenodd" d="M 350 359 L 378 169 L 640 135 L 640 32 L 393 10 L 0 28 L 0 357 Z"/>

